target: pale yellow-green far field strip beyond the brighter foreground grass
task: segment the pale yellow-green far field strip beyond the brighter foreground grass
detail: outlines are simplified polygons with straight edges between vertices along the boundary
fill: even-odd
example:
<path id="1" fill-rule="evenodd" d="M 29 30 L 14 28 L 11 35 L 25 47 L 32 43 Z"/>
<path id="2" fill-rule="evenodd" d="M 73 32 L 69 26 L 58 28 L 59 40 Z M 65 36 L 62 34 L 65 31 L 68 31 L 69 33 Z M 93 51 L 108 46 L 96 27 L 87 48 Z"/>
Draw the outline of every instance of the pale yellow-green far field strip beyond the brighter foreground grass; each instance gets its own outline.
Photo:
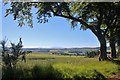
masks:
<path id="1" fill-rule="evenodd" d="M 32 53 L 27 54 L 26 56 L 27 65 L 45 65 L 45 64 L 54 64 L 54 63 L 68 63 L 78 65 L 82 62 L 90 61 L 91 59 L 84 58 L 84 56 L 64 56 L 64 55 L 53 55 L 48 53 Z M 22 61 L 18 62 L 19 64 L 26 64 Z"/>

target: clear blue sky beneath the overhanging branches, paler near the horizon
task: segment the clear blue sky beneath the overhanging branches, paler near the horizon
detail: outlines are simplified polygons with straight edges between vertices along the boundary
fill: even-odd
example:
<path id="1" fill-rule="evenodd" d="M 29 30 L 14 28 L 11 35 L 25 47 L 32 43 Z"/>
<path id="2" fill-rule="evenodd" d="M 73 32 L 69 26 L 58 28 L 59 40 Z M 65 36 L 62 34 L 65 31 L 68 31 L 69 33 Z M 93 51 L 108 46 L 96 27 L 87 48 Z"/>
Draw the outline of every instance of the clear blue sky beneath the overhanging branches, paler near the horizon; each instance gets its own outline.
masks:
<path id="1" fill-rule="evenodd" d="M 22 38 L 23 46 L 27 48 L 81 48 L 81 47 L 98 47 L 99 42 L 90 30 L 80 30 L 80 26 L 75 29 L 71 28 L 70 23 L 61 17 L 52 17 L 48 23 L 37 23 L 36 15 L 33 14 L 34 27 L 30 28 L 27 24 L 18 27 L 17 21 L 13 16 L 5 16 L 5 9 L 9 5 L 2 4 L 2 39 L 17 43 Z M 36 9 L 32 10 L 33 13 Z M 0 31 L 1 32 L 1 31 Z M 1 38 L 0 38 L 1 39 Z"/>

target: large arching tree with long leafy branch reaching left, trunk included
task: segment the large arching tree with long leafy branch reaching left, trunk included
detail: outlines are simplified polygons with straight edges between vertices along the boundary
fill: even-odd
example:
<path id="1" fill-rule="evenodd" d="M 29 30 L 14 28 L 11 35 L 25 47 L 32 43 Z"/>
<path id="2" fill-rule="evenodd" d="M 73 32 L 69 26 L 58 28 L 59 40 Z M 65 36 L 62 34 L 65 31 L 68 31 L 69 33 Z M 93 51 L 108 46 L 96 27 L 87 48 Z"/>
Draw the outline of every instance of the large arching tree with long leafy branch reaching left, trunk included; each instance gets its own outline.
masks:
<path id="1" fill-rule="evenodd" d="M 34 6 L 38 9 L 38 23 L 48 22 L 49 17 L 59 16 L 69 20 L 73 28 L 80 26 L 81 29 L 90 29 L 100 42 L 100 58 L 107 59 L 106 39 L 109 26 L 103 28 L 106 24 L 106 14 L 109 15 L 109 5 L 118 6 L 119 3 L 88 3 L 88 2 L 11 2 L 11 8 L 6 9 L 6 15 L 12 14 L 14 20 L 18 20 L 19 26 L 23 26 L 25 20 L 28 25 L 33 27 L 31 8 Z M 118 6 L 120 7 L 120 6 Z M 116 10 L 116 9 L 115 9 Z M 119 10 L 117 8 L 117 10 Z M 105 14 L 106 13 L 106 14 Z M 115 15 L 113 15 L 115 16 Z M 116 20 L 116 19 L 115 19 Z"/>

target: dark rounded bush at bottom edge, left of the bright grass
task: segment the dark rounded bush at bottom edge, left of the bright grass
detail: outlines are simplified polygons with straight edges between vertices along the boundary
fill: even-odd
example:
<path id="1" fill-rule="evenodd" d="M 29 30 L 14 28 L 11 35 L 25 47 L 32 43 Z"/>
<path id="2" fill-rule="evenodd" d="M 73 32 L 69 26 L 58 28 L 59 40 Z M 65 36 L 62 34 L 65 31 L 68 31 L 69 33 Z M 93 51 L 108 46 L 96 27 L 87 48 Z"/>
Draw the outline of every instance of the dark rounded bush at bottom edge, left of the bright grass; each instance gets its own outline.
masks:
<path id="1" fill-rule="evenodd" d="M 34 66 L 32 69 L 33 80 L 63 80 L 61 74 L 52 66 Z"/>

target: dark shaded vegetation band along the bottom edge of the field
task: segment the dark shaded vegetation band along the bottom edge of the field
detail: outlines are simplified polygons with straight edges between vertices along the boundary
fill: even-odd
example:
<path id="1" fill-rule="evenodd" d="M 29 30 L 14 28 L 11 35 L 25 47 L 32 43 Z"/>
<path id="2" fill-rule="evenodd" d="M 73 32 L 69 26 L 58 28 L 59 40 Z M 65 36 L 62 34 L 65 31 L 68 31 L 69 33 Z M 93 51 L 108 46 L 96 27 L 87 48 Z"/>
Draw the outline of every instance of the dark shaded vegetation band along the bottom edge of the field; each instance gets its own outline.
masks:
<path id="1" fill-rule="evenodd" d="M 4 68 L 2 80 L 106 80 L 106 78 L 97 70 L 93 72 L 91 77 L 80 73 L 73 78 L 65 78 L 65 75 L 52 66 L 34 66 L 32 69 L 24 68 Z M 90 73 L 89 73 L 90 74 Z"/>

